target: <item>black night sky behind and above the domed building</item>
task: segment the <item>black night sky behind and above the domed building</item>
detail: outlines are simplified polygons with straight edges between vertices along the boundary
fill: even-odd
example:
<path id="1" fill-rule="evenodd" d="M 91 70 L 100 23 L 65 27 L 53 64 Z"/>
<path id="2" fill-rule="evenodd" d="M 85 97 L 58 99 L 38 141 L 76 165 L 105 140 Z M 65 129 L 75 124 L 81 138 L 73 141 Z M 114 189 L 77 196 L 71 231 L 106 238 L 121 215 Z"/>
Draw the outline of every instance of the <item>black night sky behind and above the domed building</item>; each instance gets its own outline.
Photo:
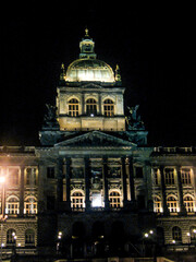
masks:
<path id="1" fill-rule="evenodd" d="M 38 144 L 60 66 L 78 57 L 86 26 L 98 58 L 120 66 L 125 105 L 140 105 L 149 144 L 196 144 L 195 10 L 132 2 L 8 1 L 0 32 L 0 144 Z"/>

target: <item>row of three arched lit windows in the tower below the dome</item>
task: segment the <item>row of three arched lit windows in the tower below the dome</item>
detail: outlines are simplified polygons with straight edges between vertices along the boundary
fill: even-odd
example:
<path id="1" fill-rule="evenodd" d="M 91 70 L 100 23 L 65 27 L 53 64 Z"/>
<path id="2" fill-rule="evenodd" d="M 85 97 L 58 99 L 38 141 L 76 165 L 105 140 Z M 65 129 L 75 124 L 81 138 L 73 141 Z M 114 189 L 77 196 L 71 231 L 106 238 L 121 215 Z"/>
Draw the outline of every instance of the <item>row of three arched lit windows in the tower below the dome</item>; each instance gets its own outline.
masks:
<path id="1" fill-rule="evenodd" d="M 69 116 L 77 117 L 79 115 L 79 102 L 76 98 L 72 98 L 68 103 L 69 105 Z M 94 98 L 89 98 L 86 100 L 86 114 L 88 116 L 96 116 L 98 103 Z M 114 103 L 111 99 L 103 100 L 103 115 L 106 117 L 114 116 Z"/>

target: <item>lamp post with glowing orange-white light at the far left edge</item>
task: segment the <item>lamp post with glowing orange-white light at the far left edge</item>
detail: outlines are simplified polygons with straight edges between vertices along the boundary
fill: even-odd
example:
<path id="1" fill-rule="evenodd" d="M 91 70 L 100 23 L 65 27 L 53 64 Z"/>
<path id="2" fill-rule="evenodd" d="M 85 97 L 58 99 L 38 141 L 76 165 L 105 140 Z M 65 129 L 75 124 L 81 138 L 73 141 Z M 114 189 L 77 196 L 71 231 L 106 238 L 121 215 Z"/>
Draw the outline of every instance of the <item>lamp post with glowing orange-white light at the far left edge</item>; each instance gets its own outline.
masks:
<path id="1" fill-rule="evenodd" d="M 2 261 L 2 240 L 3 240 L 3 222 L 8 218 L 8 216 L 4 214 L 5 212 L 5 191 L 4 191 L 4 182 L 5 178 L 4 176 L 0 177 L 0 184 L 2 186 L 2 191 L 1 191 L 1 215 L 0 215 L 0 221 L 1 221 L 1 261 Z"/>

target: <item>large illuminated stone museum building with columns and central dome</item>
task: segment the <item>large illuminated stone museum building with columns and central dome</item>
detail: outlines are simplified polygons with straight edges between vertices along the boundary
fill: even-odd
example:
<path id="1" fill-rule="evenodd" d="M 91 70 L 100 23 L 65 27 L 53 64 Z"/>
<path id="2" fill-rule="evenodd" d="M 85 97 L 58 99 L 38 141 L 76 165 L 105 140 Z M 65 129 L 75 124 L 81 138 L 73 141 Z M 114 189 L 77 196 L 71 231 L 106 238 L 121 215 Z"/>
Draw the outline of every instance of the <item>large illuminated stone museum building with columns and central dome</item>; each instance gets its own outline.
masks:
<path id="1" fill-rule="evenodd" d="M 86 29 L 61 66 L 40 146 L 1 146 L 2 252 L 144 257 L 196 245 L 196 148 L 149 147 L 120 69 Z M 150 247 L 150 248 L 149 248 Z"/>

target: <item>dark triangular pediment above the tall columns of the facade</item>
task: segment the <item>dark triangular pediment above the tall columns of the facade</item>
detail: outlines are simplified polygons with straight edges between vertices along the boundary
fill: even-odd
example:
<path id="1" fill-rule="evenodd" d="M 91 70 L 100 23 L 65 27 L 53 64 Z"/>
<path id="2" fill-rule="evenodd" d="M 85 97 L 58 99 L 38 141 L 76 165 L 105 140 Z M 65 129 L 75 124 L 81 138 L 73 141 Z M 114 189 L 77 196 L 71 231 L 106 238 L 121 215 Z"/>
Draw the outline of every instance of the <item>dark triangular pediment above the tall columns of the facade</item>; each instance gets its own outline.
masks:
<path id="1" fill-rule="evenodd" d="M 100 131 L 91 131 L 64 140 L 54 146 L 69 147 L 136 147 L 136 144 Z"/>

